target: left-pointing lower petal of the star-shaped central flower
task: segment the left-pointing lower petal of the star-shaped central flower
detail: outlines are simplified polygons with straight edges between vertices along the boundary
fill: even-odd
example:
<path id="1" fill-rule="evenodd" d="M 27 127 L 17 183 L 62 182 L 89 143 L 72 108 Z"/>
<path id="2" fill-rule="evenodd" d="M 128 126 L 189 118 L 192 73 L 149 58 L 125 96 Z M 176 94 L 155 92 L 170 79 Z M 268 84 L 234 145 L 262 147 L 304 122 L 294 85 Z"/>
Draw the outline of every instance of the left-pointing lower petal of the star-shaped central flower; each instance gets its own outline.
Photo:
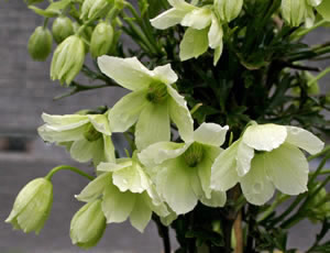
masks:
<path id="1" fill-rule="evenodd" d="M 141 111 L 147 105 L 145 90 L 138 90 L 121 98 L 109 112 L 109 123 L 112 132 L 125 132 L 139 119 Z"/>

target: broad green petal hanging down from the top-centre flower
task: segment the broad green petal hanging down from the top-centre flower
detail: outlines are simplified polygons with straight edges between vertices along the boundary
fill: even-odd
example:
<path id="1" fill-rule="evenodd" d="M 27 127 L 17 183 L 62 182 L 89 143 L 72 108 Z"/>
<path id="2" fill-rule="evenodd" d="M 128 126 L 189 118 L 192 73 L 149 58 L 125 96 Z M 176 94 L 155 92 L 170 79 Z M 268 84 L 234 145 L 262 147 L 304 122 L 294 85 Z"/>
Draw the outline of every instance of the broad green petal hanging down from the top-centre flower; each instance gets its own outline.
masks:
<path id="1" fill-rule="evenodd" d="M 199 55 L 207 52 L 209 47 L 208 40 L 209 29 L 196 30 L 188 28 L 180 43 L 179 57 L 182 61 L 197 58 Z"/>

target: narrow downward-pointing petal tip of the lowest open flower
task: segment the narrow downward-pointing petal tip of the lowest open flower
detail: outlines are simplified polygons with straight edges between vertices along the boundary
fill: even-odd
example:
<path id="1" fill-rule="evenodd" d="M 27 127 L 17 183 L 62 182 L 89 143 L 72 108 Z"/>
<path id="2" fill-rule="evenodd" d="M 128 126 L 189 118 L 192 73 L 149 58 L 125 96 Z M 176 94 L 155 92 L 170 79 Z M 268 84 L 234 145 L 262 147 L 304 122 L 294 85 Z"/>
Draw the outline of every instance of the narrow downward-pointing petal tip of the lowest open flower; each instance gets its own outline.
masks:
<path id="1" fill-rule="evenodd" d="M 153 213 L 144 198 L 144 195 L 139 195 L 136 197 L 134 208 L 130 216 L 131 224 L 141 233 L 150 222 Z"/>

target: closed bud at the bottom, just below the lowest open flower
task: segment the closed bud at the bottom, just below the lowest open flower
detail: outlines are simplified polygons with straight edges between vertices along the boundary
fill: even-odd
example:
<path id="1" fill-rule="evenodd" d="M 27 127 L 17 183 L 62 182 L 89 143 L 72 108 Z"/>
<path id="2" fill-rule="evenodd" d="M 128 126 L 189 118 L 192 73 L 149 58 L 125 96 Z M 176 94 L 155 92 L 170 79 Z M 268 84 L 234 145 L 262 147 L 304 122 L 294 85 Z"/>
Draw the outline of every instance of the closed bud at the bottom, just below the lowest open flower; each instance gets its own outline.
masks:
<path id="1" fill-rule="evenodd" d="M 70 238 L 74 244 L 82 249 L 95 246 L 102 238 L 107 221 L 101 200 L 86 204 L 74 216 L 70 224 Z"/>

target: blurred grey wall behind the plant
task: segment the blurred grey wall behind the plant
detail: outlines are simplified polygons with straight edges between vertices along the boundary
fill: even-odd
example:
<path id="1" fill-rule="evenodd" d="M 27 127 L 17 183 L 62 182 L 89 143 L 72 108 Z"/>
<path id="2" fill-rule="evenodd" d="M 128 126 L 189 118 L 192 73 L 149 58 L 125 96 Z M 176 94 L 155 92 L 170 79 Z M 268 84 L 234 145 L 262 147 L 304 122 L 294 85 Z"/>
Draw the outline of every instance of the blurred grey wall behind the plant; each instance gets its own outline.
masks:
<path id="1" fill-rule="evenodd" d="M 54 97 L 67 89 L 50 80 L 51 57 L 46 63 L 33 62 L 26 48 L 31 33 L 42 22 L 23 0 L 0 2 L 0 253 L 86 252 L 72 245 L 68 233 L 70 219 L 81 206 L 74 195 L 87 182 L 70 172 L 54 177 L 53 210 L 38 237 L 13 231 L 3 221 L 16 194 L 29 180 L 61 164 L 77 165 L 63 148 L 46 145 L 37 136 L 42 112 L 65 114 L 98 106 L 111 107 L 124 95 L 122 89 L 106 88 L 54 101 Z M 307 38 L 312 44 L 326 41 L 330 41 L 329 30 L 319 30 Z M 329 65 L 330 62 L 322 63 L 320 67 Z M 329 91 L 329 76 L 321 81 L 322 90 Z M 88 165 L 77 166 L 91 172 Z M 294 229 L 289 245 L 306 249 L 317 229 L 308 221 L 301 222 Z M 129 223 L 111 224 L 100 243 L 87 252 L 158 253 L 162 242 L 152 223 L 143 234 Z"/>

